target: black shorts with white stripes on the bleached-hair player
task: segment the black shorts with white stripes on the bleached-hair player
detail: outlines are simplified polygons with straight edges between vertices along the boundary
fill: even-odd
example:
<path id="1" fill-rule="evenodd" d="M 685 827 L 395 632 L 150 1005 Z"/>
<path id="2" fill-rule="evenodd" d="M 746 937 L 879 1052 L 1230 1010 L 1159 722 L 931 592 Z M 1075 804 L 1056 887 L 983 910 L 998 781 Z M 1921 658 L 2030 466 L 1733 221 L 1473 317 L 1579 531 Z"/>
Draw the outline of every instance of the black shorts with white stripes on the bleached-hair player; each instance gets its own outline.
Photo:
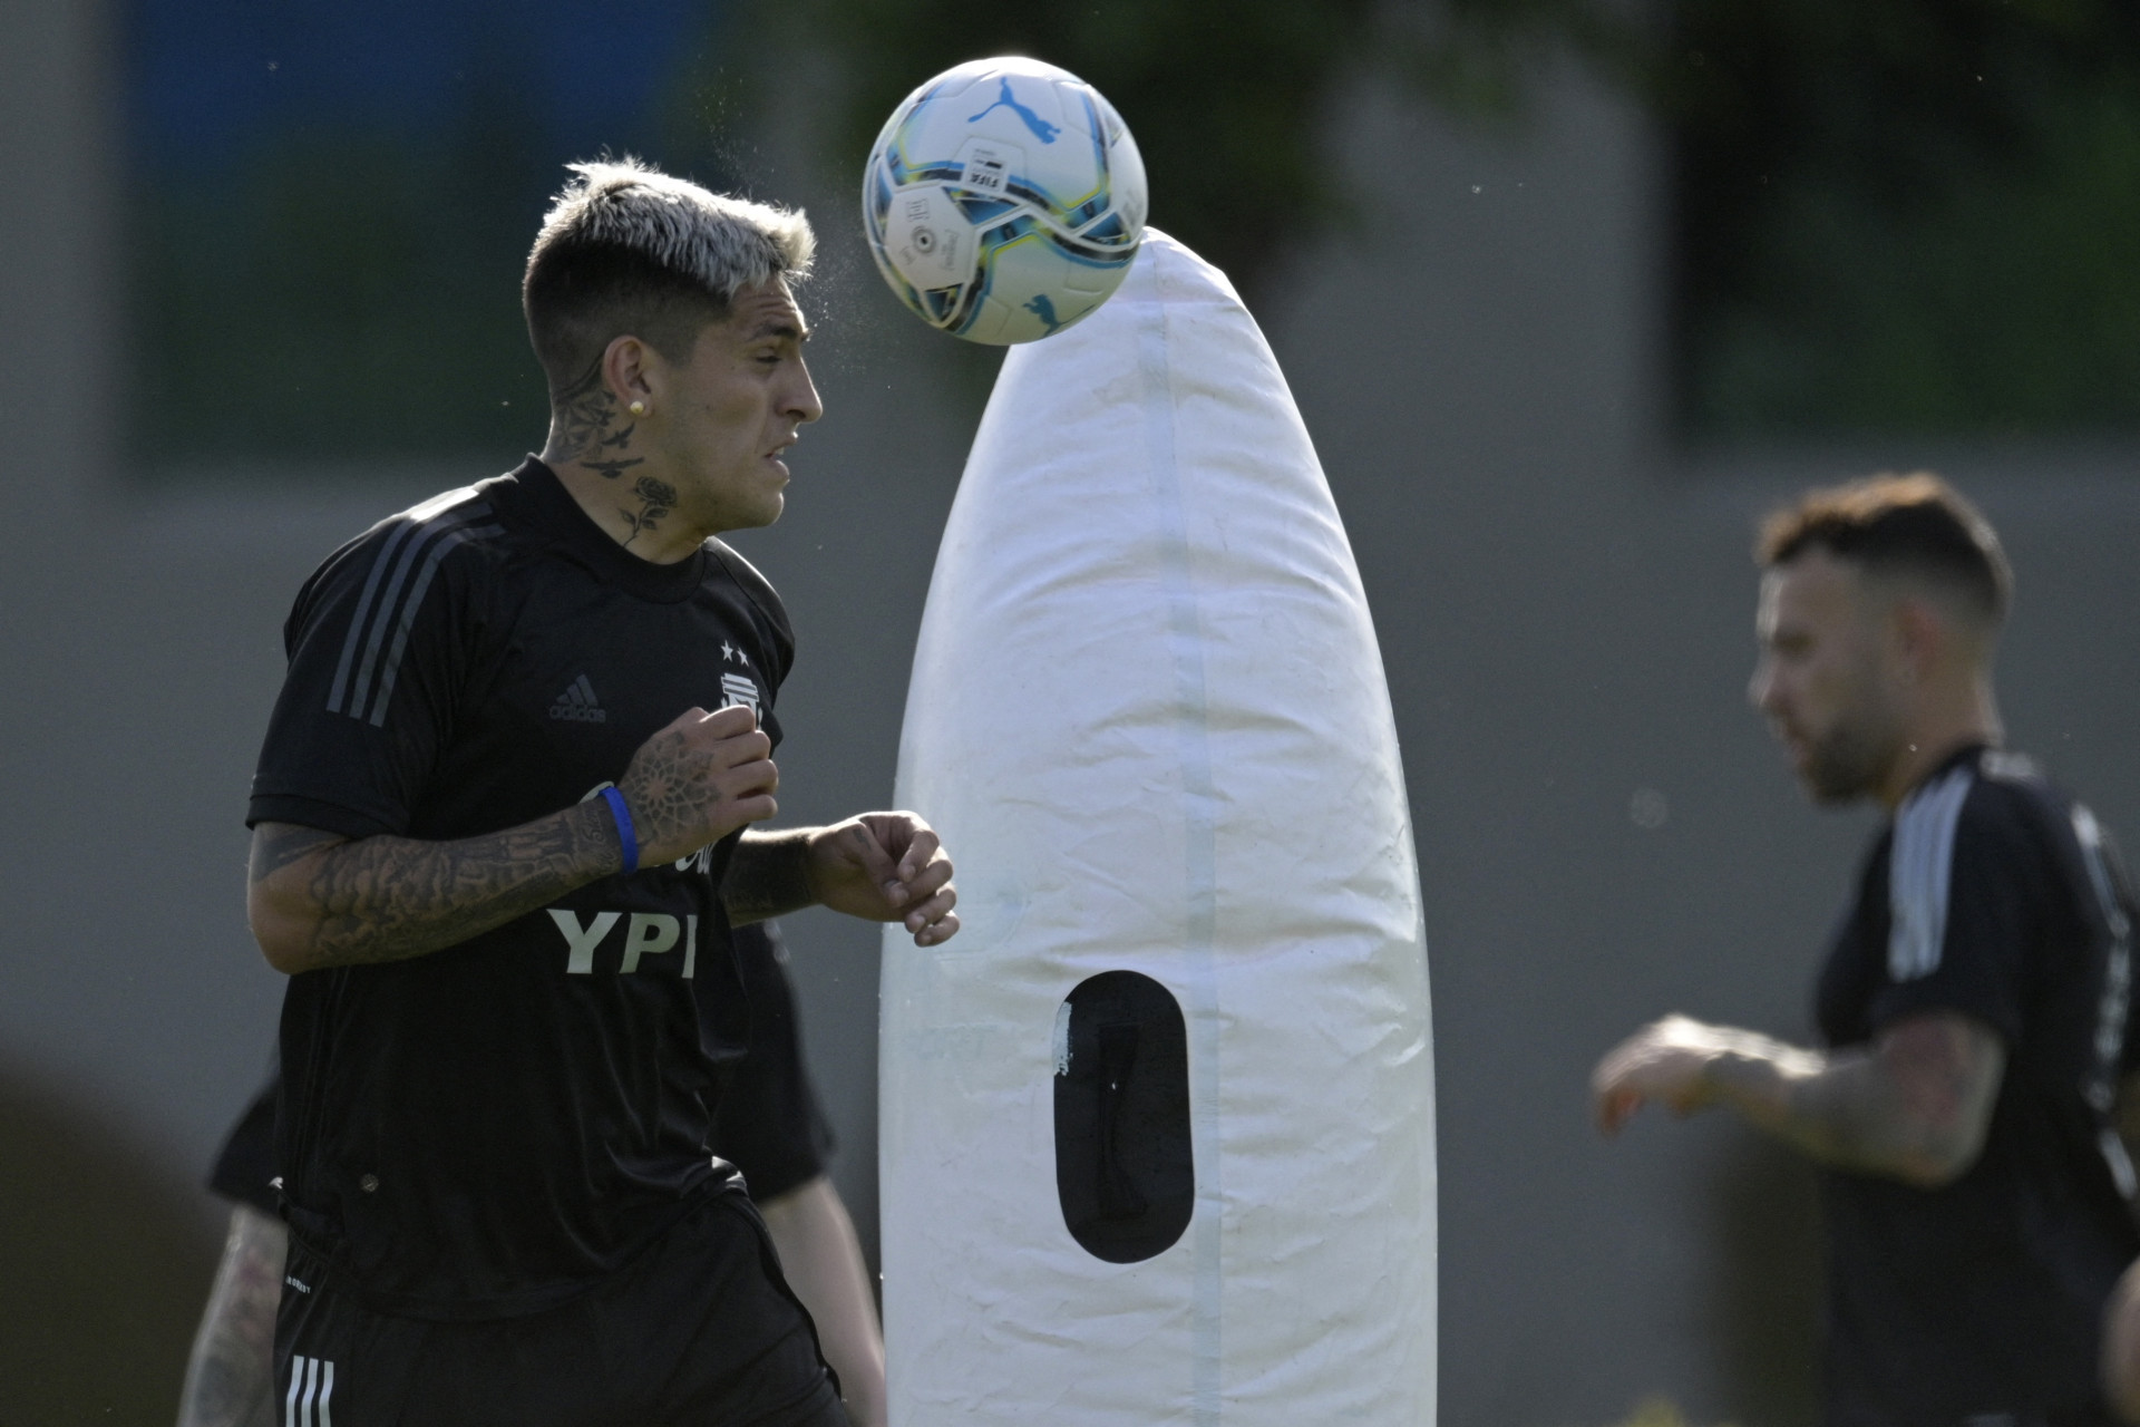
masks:
<path id="1" fill-rule="evenodd" d="M 817 1331 L 736 1192 L 706 1196 L 623 1273 L 522 1318 L 374 1314 L 295 1237 L 285 1275 L 282 1427 L 847 1423 Z"/>

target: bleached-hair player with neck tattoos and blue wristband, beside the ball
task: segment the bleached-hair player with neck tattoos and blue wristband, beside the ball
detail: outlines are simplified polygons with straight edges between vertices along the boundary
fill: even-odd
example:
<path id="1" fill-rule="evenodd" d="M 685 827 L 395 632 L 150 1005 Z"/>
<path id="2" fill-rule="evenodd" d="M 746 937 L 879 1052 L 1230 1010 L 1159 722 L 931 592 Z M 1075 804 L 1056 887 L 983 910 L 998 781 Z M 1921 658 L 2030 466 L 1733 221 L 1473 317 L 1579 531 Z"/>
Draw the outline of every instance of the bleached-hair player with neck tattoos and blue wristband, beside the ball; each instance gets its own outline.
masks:
<path id="1" fill-rule="evenodd" d="M 306 582 L 253 783 L 282 1006 L 287 1418 L 835 1425 L 807 1314 L 706 1151 L 730 926 L 959 929 L 912 813 L 775 813 L 794 653 L 715 539 L 822 413 L 800 214 L 576 165 L 522 289 L 550 439 Z M 715 710 L 715 712 L 706 712 Z"/>

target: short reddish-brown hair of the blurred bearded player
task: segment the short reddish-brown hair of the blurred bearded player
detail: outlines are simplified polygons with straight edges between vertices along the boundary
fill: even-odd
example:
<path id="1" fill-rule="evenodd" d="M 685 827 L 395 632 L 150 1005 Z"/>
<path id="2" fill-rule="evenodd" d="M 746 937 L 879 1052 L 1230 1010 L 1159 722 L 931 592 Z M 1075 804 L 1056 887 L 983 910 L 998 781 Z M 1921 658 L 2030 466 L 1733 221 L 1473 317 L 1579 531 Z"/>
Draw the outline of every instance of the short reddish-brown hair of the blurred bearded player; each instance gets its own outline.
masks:
<path id="1" fill-rule="evenodd" d="M 1875 475 L 1806 494 L 1761 526 L 1755 561 L 1789 565 L 1808 550 L 1849 561 L 1872 580 L 1909 584 L 1997 633 L 2014 571 L 1975 505 L 1928 471 Z"/>

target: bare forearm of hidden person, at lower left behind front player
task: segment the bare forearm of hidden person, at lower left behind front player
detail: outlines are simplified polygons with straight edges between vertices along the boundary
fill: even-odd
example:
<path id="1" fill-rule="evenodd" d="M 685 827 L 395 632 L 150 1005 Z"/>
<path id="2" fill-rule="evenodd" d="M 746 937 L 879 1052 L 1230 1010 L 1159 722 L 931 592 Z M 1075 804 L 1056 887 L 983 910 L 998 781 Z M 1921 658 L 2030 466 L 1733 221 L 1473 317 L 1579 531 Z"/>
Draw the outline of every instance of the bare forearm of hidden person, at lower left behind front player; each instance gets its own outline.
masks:
<path id="1" fill-rule="evenodd" d="M 282 1301 L 280 1222 L 240 1204 L 186 1363 L 178 1427 L 274 1427 L 274 1316 Z"/>

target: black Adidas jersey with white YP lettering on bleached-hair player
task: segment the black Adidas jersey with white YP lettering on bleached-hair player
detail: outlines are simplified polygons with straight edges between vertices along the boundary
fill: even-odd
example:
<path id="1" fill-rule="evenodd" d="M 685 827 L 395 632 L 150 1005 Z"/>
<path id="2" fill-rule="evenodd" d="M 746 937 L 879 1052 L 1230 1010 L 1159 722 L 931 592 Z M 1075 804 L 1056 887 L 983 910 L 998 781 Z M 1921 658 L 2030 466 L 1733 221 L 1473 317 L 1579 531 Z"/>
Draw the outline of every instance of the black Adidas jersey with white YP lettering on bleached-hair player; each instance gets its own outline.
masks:
<path id="1" fill-rule="evenodd" d="M 357 537 L 285 627 L 248 822 L 460 839 L 571 807 L 691 706 L 773 695 L 764 578 L 621 548 L 537 460 Z M 749 1010 L 717 894 L 734 839 L 460 946 L 293 976 L 276 1162 L 293 1230 L 379 1311 L 535 1311 L 698 1194 Z"/>

